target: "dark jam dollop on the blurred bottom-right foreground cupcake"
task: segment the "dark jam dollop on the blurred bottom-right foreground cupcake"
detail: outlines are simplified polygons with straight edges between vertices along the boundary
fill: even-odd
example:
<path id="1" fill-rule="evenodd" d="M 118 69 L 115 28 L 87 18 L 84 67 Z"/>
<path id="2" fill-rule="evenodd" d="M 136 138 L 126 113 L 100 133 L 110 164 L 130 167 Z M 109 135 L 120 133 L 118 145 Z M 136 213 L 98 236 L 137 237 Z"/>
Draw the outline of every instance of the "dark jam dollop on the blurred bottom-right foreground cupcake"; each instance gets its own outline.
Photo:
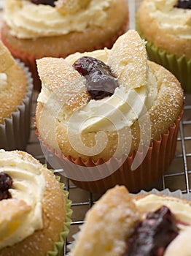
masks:
<path id="1" fill-rule="evenodd" d="M 128 238 L 123 256 L 163 256 L 165 248 L 179 234 L 174 214 L 166 206 L 147 214 Z"/>

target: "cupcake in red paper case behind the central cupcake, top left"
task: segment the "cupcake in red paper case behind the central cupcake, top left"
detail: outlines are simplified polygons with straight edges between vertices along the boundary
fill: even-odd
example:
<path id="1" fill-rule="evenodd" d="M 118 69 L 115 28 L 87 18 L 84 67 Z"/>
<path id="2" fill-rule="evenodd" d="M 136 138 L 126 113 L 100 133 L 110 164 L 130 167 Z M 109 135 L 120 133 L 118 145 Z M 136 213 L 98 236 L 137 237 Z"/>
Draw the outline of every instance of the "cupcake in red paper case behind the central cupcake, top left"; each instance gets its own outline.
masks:
<path id="1" fill-rule="evenodd" d="M 124 0 L 6 0 L 1 37 L 13 56 L 34 74 L 36 59 L 111 48 L 128 22 Z"/>

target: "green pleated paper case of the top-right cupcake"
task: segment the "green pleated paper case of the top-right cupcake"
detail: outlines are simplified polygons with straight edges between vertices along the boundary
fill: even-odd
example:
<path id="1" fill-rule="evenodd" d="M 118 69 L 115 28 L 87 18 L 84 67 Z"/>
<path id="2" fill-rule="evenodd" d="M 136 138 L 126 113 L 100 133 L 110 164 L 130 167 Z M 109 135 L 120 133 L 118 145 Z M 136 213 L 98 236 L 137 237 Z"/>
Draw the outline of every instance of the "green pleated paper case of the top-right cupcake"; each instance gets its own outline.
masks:
<path id="1" fill-rule="evenodd" d="M 139 34 L 141 35 L 140 31 Z M 144 38 L 142 35 L 141 37 Z M 147 39 L 145 40 L 147 41 Z M 179 80 L 184 91 L 191 93 L 191 59 L 187 61 L 184 56 L 178 58 L 174 54 L 166 53 L 152 42 L 147 42 L 146 48 L 149 60 L 168 69 Z"/>

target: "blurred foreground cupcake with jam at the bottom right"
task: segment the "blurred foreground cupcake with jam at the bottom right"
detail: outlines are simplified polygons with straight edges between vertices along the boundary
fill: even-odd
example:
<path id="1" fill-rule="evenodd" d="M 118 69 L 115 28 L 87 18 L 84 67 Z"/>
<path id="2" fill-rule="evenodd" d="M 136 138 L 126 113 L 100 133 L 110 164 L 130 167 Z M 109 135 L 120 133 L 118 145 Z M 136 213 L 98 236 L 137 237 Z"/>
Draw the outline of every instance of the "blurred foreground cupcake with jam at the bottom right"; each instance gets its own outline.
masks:
<path id="1" fill-rule="evenodd" d="M 191 204 L 114 187 L 87 212 L 70 256 L 190 255 Z"/>

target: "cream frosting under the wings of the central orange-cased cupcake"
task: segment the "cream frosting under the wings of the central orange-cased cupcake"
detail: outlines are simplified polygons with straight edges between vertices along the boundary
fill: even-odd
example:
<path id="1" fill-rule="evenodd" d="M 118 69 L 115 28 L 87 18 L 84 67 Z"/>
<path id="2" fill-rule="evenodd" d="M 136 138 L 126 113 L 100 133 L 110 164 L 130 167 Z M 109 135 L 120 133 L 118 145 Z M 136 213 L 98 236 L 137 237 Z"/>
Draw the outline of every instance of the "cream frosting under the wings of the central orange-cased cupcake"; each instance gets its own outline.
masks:
<path id="1" fill-rule="evenodd" d="M 109 50 L 105 48 L 90 53 L 74 53 L 66 57 L 66 61 L 73 64 L 82 56 L 92 56 L 106 63 Z M 42 84 L 42 91 L 37 101 L 45 105 L 50 95 L 50 91 Z M 120 130 L 130 127 L 134 121 L 151 108 L 156 97 L 157 83 L 148 69 L 146 86 L 138 84 L 127 91 L 125 85 L 120 83 L 111 97 L 100 100 L 91 99 L 87 105 L 82 106 L 74 113 L 64 110 L 64 114 L 60 113 L 58 118 L 61 124 L 69 124 L 69 129 L 77 129 L 76 132 Z"/>

